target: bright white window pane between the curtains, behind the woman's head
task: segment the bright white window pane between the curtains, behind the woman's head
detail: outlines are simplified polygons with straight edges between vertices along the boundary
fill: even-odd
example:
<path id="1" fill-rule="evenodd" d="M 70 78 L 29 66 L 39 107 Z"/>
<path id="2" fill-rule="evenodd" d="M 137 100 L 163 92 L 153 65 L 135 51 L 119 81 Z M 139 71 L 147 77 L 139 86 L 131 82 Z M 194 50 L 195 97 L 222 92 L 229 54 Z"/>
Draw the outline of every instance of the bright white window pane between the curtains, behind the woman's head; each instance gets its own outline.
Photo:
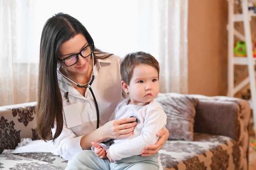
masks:
<path id="1" fill-rule="evenodd" d="M 83 23 L 95 46 L 102 51 L 123 57 L 139 50 L 138 0 L 38 0 L 35 43 L 37 51 L 44 23 L 58 12 L 68 13 Z"/>

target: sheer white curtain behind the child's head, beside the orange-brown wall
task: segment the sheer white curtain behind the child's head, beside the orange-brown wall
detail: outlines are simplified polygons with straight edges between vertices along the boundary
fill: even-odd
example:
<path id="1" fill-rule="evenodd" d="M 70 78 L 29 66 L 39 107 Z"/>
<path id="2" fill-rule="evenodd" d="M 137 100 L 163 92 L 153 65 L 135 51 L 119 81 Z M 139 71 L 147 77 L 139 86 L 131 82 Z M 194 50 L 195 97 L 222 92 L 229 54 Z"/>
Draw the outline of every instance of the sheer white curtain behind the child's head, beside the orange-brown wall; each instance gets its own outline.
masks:
<path id="1" fill-rule="evenodd" d="M 160 92 L 188 93 L 188 0 L 139 0 L 139 46 L 160 65 Z"/>

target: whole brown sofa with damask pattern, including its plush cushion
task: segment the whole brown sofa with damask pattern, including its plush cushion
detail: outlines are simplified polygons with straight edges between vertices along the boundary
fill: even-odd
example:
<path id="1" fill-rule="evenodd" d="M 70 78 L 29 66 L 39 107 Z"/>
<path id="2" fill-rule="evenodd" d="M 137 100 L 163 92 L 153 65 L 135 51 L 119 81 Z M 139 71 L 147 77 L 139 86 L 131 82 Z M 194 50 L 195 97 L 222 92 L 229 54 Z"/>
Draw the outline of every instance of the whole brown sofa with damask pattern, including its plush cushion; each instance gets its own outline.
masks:
<path id="1" fill-rule="evenodd" d="M 179 93 L 159 93 L 155 100 L 166 112 L 170 132 L 159 151 L 164 170 L 248 169 L 251 108 L 246 100 Z M 0 106 L 0 170 L 63 170 L 67 166 L 53 148 L 40 143 L 33 128 L 35 106 L 36 102 Z M 26 140 L 32 142 L 20 146 Z M 31 145 L 33 141 L 39 146 Z M 22 147 L 28 152 L 16 152 Z"/>

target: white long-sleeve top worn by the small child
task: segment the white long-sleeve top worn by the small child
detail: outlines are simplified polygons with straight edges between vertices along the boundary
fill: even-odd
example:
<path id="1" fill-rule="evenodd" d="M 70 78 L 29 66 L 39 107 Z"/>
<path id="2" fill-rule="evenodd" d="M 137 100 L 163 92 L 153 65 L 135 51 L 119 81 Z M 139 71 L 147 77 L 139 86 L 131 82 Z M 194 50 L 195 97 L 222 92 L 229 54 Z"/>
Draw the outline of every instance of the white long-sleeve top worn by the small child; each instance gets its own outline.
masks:
<path id="1" fill-rule="evenodd" d="M 135 116 L 138 122 L 130 137 L 115 139 L 114 144 L 109 147 L 114 161 L 141 155 L 141 150 L 157 142 L 157 132 L 166 126 L 167 116 L 160 104 L 151 101 L 146 106 L 137 106 L 128 104 L 129 100 L 130 98 L 127 98 L 120 102 L 115 110 L 114 119 Z"/>

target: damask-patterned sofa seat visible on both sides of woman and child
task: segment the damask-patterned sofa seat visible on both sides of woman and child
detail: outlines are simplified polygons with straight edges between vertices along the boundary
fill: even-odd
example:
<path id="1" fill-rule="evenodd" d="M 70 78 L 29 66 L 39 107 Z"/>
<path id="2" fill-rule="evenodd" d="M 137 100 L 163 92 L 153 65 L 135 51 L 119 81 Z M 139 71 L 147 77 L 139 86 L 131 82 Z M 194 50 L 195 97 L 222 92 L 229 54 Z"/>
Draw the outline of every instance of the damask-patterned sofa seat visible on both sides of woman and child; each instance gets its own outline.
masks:
<path id="1" fill-rule="evenodd" d="M 194 141 L 168 140 L 159 154 L 164 170 L 238 170 L 240 165 L 236 141 L 219 135 L 195 133 Z M 1 154 L 0 162 L 1 170 L 63 170 L 67 166 L 67 161 L 52 153 Z"/>

